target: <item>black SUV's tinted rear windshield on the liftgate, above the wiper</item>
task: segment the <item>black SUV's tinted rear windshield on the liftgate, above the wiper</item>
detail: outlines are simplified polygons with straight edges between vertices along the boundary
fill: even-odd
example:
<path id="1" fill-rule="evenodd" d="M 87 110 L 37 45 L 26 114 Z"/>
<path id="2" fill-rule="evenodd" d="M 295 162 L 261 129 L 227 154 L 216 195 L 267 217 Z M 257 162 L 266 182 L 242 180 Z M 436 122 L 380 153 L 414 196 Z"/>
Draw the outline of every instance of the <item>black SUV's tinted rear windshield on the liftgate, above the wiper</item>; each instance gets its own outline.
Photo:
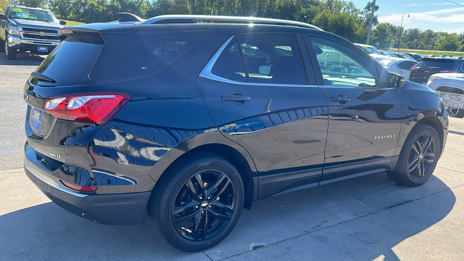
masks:
<path id="1" fill-rule="evenodd" d="M 71 35 L 45 58 L 36 72 L 45 74 L 56 83 L 32 79 L 39 85 L 79 85 L 92 69 L 103 47 L 103 38 L 97 35 Z"/>

